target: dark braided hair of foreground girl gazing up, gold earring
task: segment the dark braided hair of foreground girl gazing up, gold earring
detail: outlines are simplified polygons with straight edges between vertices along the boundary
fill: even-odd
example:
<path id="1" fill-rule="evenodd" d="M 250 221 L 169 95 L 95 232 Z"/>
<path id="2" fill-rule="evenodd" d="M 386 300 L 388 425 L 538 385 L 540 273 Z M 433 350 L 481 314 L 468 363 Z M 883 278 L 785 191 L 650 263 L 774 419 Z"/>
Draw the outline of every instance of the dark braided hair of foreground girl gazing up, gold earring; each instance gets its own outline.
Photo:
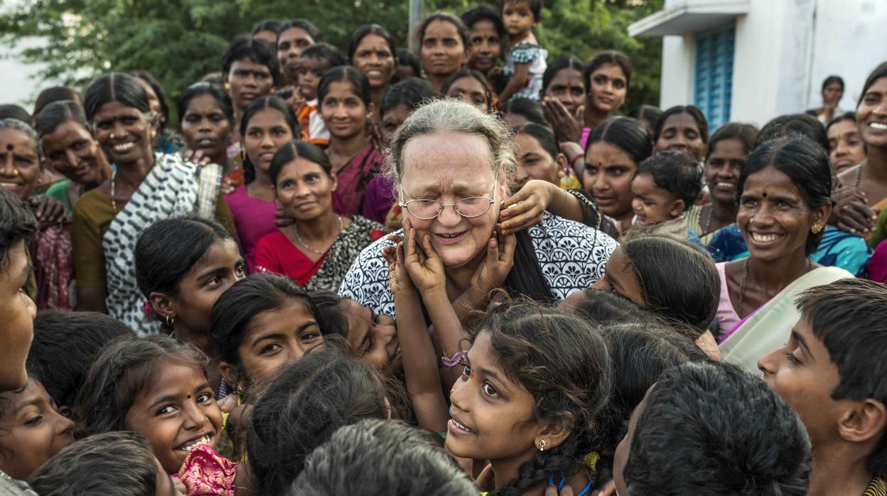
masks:
<path id="1" fill-rule="evenodd" d="M 497 305 L 472 337 L 490 335 L 490 349 L 506 376 L 536 403 L 532 421 L 569 426 L 560 445 L 536 452 L 518 476 L 491 496 L 517 496 L 561 471 L 571 474 L 598 451 L 612 366 L 600 331 L 585 320 L 536 303 Z"/>

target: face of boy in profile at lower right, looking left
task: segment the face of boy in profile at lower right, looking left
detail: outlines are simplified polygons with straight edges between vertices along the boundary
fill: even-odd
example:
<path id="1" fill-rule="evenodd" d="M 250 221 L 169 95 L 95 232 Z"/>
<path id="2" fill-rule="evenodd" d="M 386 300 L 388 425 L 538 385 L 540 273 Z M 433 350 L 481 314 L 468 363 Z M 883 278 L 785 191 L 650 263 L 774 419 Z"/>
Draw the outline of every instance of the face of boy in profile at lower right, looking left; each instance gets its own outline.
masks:
<path id="1" fill-rule="evenodd" d="M 831 398 L 841 376 L 804 317 L 792 329 L 789 342 L 758 360 L 757 367 L 767 385 L 797 411 L 813 445 L 836 433 L 849 402 Z"/>

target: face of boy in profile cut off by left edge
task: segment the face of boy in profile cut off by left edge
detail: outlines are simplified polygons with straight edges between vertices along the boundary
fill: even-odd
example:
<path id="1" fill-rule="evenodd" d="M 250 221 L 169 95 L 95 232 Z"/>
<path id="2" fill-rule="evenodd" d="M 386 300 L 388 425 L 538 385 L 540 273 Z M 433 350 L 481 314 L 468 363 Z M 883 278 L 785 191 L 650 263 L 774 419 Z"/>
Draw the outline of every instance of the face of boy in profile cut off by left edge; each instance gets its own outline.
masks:
<path id="1" fill-rule="evenodd" d="M 37 306 L 25 294 L 27 273 L 25 241 L 19 240 L 0 262 L 0 392 L 18 390 L 27 382 L 25 359 L 37 315 Z"/>

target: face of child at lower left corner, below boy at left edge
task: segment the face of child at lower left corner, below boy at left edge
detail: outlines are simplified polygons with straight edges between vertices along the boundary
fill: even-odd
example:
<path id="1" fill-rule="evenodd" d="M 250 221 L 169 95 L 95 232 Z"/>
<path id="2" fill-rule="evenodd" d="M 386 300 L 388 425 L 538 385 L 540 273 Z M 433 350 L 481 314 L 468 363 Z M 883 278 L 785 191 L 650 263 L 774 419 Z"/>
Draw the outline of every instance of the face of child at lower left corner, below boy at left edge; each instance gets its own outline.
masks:
<path id="1" fill-rule="evenodd" d="M 0 470 L 8 476 L 26 480 L 73 442 L 74 422 L 59 413 L 37 378 L 0 393 Z"/>

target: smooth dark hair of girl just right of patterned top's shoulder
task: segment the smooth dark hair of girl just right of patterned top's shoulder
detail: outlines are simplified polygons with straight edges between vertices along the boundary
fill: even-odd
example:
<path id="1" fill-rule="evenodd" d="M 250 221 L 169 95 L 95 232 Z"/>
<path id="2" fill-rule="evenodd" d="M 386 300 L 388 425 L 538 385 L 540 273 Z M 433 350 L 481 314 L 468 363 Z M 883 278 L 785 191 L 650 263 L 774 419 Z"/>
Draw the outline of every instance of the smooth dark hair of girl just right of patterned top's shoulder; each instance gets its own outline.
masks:
<path id="1" fill-rule="evenodd" d="M 673 224 L 650 224 L 621 239 L 620 246 L 648 309 L 674 327 L 692 327 L 679 330 L 697 338 L 718 311 L 720 278 L 703 248 L 660 232 Z"/>

